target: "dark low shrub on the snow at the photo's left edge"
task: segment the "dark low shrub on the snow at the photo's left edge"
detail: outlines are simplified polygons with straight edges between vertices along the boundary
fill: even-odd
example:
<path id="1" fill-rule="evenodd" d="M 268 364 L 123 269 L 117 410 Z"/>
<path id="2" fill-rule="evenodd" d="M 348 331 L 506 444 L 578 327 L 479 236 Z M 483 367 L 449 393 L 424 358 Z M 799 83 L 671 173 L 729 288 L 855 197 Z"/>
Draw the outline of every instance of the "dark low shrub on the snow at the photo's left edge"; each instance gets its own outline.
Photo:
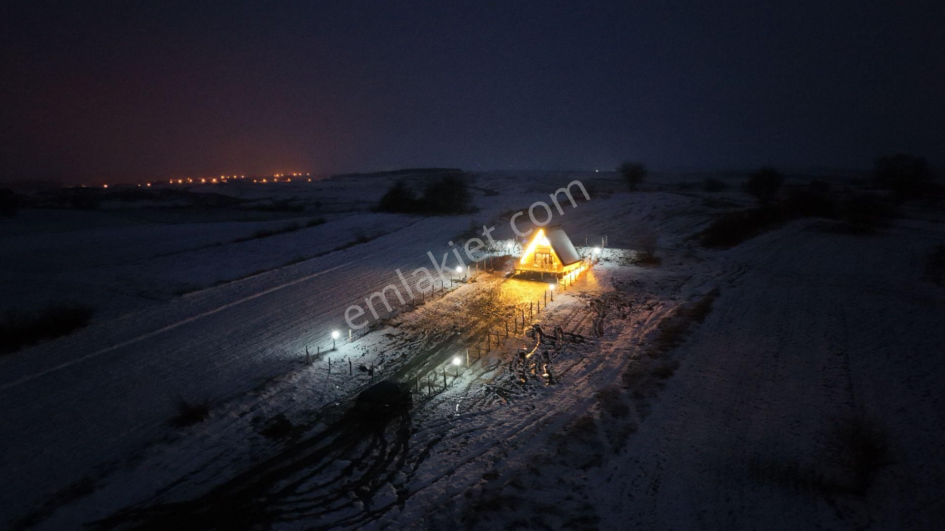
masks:
<path id="1" fill-rule="evenodd" d="M 81 304 L 50 305 L 35 313 L 7 312 L 0 319 L 0 354 L 55 339 L 87 326 L 94 309 Z"/>

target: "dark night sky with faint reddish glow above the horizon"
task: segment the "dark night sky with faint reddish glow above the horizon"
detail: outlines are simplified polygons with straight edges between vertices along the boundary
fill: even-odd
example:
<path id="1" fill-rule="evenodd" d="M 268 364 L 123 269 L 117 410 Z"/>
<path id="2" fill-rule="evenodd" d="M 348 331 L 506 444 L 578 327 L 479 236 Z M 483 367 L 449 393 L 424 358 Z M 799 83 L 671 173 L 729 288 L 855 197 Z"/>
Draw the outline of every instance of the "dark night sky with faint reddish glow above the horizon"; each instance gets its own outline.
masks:
<path id="1" fill-rule="evenodd" d="M 945 160 L 940 1 L 7 2 L 0 43 L 5 179 Z"/>

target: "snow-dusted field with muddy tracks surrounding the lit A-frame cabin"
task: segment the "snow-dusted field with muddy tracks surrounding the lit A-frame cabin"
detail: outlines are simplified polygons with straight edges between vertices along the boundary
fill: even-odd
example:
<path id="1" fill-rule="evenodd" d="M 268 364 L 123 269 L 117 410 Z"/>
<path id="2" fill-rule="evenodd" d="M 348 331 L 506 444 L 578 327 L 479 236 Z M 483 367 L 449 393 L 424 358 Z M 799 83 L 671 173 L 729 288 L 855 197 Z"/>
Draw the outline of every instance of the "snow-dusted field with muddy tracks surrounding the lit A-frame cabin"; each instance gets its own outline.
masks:
<path id="1" fill-rule="evenodd" d="M 397 268 L 430 267 L 426 252 L 471 226 L 508 238 L 509 211 L 574 179 L 592 198 L 554 222 L 579 250 L 605 235 L 609 248 L 554 300 L 497 261 L 348 340 L 344 309 Z M 0 357 L 0 522 L 940 526 L 945 288 L 922 273 L 945 241 L 940 214 L 916 207 L 868 233 L 804 218 L 713 250 L 694 235 L 750 201 L 669 186 L 680 179 L 630 194 L 603 174 L 479 174 L 478 212 L 446 217 L 369 213 L 390 176 L 227 190 L 317 202 L 298 213 L 25 210 L 0 224 L 5 304 L 67 295 L 96 314 Z M 301 228 L 248 238 L 287 223 Z M 633 265 L 652 233 L 662 264 Z M 536 344 L 523 318 L 570 333 L 528 359 L 524 383 L 509 368 Z M 344 334 L 330 351 L 332 330 Z M 353 419 L 371 380 L 359 366 L 413 385 L 409 415 Z M 172 426 L 180 401 L 208 403 L 209 418 Z M 890 459 L 854 492 L 832 433 L 861 412 Z"/>

